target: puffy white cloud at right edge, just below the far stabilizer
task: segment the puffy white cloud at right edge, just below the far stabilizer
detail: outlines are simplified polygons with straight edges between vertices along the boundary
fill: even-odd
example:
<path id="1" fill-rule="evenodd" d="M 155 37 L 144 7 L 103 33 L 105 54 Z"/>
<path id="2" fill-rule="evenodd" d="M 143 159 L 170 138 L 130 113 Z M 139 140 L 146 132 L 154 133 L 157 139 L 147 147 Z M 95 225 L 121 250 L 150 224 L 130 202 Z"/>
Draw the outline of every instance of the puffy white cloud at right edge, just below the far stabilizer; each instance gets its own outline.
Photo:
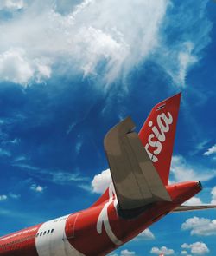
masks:
<path id="1" fill-rule="evenodd" d="M 191 230 L 191 235 L 216 235 L 216 220 L 205 218 L 190 218 L 181 225 L 182 230 Z"/>

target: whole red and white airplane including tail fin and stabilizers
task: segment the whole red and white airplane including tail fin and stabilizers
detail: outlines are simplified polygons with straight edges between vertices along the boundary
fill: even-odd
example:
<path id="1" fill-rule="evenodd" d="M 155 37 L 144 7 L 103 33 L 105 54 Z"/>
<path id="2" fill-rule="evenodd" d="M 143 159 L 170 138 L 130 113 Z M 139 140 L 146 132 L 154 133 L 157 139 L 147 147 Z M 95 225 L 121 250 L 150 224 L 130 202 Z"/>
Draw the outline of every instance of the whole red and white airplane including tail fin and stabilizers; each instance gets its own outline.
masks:
<path id="1" fill-rule="evenodd" d="M 181 93 L 152 108 L 140 132 L 130 117 L 105 135 L 112 182 L 91 206 L 0 238 L 0 256 L 102 256 L 184 206 L 200 181 L 168 183 Z"/>

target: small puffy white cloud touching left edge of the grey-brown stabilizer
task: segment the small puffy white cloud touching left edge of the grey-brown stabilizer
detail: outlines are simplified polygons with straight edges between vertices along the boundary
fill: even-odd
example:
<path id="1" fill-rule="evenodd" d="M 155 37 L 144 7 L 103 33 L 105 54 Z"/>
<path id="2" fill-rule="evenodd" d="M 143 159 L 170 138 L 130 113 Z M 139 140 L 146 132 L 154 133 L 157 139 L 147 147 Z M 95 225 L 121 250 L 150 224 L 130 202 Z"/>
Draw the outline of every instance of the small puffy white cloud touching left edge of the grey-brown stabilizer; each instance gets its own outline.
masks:
<path id="1" fill-rule="evenodd" d="M 107 169 L 94 176 L 92 180 L 92 189 L 95 193 L 104 193 L 105 189 L 111 184 L 111 171 Z"/>

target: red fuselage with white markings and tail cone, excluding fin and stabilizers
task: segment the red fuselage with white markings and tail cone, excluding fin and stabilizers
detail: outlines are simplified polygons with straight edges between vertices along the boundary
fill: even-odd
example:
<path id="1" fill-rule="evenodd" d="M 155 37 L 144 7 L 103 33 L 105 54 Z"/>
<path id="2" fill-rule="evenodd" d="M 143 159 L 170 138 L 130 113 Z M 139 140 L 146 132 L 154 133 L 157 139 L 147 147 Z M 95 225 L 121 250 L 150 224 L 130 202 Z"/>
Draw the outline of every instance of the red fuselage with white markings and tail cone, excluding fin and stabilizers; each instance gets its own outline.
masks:
<path id="1" fill-rule="evenodd" d="M 92 207 L 0 238 L 1 256 L 105 255 L 133 239 L 200 192 L 200 182 L 166 187 L 172 202 L 157 202 L 130 218 L 120 217 L 111 186 Z M 122 216 L 122 215 L 121 215 Z"/>

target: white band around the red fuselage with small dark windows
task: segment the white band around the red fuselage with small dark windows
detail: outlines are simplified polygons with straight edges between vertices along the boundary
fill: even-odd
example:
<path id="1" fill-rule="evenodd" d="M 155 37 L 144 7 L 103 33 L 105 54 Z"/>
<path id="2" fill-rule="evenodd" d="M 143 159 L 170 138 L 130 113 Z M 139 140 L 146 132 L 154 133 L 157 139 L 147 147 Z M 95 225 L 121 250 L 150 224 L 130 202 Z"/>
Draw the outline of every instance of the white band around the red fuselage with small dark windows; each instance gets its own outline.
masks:
<path id="1" fill-rule="evenodd" d="M 39 256 L 84 256 L 73 248 L 67 240 L 65 226 L 68 216 L 47 221 L 41 225 L 38 230 L 39 235 L 35 240 Z M 51 233 L 52 229 L 54 229 L 53 233 Z M 46 234 L 43 234 L 45 231 Z"/>

